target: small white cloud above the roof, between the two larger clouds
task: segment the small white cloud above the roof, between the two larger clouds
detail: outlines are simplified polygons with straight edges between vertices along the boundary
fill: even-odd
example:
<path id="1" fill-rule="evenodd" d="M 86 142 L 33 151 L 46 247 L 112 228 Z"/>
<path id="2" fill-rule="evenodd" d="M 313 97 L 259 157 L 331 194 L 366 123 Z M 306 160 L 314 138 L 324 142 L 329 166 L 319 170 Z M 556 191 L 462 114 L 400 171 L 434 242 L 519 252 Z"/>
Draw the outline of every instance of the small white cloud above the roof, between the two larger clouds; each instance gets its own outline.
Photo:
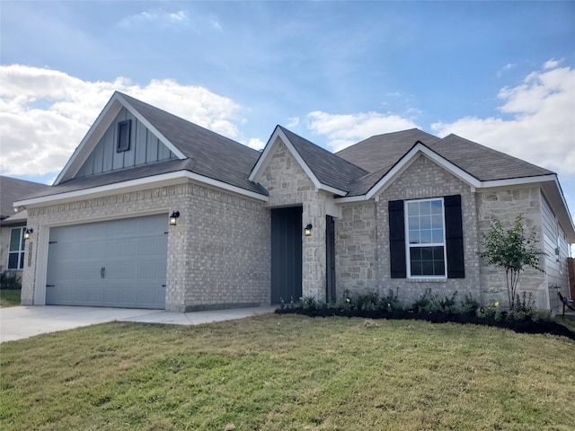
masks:
<path id="1" fill-rule="evenodd" d="M 411 119 L 380 112 L 341 115 L 316 110 L 310 112 L 307 119 L 307 128 L 317 135 L 327 136 L 327 145 L 332 151 L 340 151 L 369 136 L 418 128 Z"/>

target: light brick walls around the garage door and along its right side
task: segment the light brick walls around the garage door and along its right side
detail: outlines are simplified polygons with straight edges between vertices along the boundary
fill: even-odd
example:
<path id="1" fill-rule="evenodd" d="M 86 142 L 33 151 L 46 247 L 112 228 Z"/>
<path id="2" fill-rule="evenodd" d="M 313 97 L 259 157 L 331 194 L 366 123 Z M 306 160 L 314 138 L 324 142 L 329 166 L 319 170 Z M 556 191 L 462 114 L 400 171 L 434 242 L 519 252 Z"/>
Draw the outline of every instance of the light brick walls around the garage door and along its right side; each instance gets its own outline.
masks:
<path id="1" fill-rule="evenodd" d="M 181 217 L 168 226 L 173 210 Z M 270 303 L 269 211 L 261 201 L 190 182 L 29 208 L 34 236 L 26 244 L 22 303 L 34 300 L 40 230 L 162 212 L 169 232 L 166 310 Z"/>

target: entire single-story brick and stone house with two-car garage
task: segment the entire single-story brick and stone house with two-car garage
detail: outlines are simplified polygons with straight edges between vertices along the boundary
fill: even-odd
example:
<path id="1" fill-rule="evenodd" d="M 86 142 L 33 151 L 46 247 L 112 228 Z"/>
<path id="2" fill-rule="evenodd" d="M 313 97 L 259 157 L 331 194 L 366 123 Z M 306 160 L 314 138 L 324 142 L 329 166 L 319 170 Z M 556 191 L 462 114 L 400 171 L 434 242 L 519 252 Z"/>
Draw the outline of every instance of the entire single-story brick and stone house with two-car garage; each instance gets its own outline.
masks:
<path id="1" fill-rule="evenodd" d="M 25 304 L 187 312 L 396 288 L 504 303 L 481 233 L 522 213 L 549 256 L 520 288 L 551 308 L 575 242 L 555 173 L 459 136 L 332 154 L 278 126 L 257 152 L 119 92 L 54 186 L 16 205 L 33 229 Z"/>

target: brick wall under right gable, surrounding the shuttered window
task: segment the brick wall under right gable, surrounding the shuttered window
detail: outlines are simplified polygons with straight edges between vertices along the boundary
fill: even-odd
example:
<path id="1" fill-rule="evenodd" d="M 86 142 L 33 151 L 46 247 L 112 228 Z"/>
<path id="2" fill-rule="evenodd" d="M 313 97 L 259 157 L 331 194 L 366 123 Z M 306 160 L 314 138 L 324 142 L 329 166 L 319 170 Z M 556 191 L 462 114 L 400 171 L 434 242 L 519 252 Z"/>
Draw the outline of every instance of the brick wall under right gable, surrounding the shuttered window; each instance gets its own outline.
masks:
<path id="1" fill-rule="evenodd" d="M 464 278 L 410 279 L 391 278 L 389 256 L 389 217 L 388 202 L 398 199 L 441 198 L 461 195 L 464 229 Z M 380 295 L 387 295 L 389 289 L 399 288 L 399 298 L 405 305 L 413 303 L 430 288 L 440 299 L 457 291 L 461 300 L 470 293 L 482 301 L 480 288 L 479 247 L 477 230 L 477 209 L 475 194 L 470 186 L 440 167 L 428 157 L 420 155 L 394 182 L 380 195 L 377 207 L 377 253 L 380 261 Z"/>

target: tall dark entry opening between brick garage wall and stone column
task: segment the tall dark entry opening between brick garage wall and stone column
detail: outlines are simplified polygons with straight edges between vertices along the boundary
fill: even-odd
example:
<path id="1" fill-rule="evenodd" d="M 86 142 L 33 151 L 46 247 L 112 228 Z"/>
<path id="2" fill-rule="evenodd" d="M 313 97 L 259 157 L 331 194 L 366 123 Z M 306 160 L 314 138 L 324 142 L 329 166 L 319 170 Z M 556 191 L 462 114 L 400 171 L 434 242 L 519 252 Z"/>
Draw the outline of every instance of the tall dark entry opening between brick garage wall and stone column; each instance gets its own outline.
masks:
<path id="1" fill-rule="evenodd" d="M 302 295 L 302 207 L 271 210 L 271 303 Z"/>

